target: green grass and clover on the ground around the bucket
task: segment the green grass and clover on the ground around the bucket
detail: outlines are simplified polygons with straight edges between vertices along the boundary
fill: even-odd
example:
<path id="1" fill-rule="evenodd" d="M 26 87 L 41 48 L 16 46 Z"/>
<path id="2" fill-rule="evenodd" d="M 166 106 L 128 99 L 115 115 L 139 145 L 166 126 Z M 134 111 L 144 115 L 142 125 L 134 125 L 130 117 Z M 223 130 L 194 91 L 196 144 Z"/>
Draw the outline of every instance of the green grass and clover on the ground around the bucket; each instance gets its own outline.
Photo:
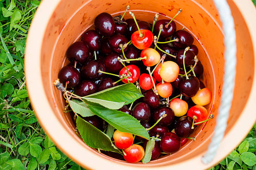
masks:
<path id="1" fill-rule="evenodd" d="M 39 3 L 0 0 L 0 170 L 80 170 L 45 135 L 26 91 L 24 50 Z M 256 170 L 255 130 L 256 125 L 236 150 L 211 169 Z"/>

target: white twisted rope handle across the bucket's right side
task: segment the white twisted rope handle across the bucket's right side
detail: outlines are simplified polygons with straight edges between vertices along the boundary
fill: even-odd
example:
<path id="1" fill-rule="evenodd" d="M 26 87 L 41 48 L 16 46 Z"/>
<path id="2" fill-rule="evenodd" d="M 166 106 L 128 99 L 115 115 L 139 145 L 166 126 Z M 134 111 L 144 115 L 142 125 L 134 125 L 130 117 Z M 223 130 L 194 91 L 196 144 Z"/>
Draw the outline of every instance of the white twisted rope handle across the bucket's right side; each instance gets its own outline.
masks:
<path id="1" fill-rule="evenodd" d="M 228 115 L 233 99 L 233 90 L 236 76 L 236 31 L 234 20 L 231 15 L 230 7 L 226 0 L 213 0 L 217 10 L 219 11 L 220 20 L 222 21 L 225 43 L 225 65 L 223 76 L 223 88 L 221 94 L 221 103 L 218 110 L 218 117 L 215 126 L 215 133 L 212 136 L 212 141 L 207 152 L 202 157 L 202 162 L 207 164 L 214 158 L 220 142 L 223 139 Z"/>

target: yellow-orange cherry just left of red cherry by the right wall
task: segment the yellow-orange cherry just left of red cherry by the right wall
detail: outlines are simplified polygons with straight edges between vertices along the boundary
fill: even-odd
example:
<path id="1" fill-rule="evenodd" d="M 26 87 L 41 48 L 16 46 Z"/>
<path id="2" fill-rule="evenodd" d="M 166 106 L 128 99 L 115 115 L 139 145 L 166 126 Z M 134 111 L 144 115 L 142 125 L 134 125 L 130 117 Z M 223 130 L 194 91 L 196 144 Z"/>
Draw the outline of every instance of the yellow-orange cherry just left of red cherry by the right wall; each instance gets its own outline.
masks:
<path id="1" fill-rule="evenodd" d="M 174 115 L 177 117 L 185 115 L 188 110 L 187 102 L 179 98 L 172 99 L 169 107 L 174 111 Z"/>

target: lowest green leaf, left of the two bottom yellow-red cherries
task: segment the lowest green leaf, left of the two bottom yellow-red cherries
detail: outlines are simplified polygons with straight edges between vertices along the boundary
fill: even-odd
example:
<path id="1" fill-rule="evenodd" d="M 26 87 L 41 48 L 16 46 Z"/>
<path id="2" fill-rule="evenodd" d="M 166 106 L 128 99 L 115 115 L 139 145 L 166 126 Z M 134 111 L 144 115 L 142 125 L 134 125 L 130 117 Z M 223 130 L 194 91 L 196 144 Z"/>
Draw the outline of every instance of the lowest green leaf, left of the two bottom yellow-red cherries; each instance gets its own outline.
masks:
<path id="1" fill-rule="evenodd" d="M 111 142 L 108 135 L 95 128 L 89 122 L 83 120 L 81 117 L 77 116 L 77 129 L 86 143 L 91 148 L 100 148 L 106 151 L 112 151 L 116 153 L 120 153 L 115 145 Z"/>

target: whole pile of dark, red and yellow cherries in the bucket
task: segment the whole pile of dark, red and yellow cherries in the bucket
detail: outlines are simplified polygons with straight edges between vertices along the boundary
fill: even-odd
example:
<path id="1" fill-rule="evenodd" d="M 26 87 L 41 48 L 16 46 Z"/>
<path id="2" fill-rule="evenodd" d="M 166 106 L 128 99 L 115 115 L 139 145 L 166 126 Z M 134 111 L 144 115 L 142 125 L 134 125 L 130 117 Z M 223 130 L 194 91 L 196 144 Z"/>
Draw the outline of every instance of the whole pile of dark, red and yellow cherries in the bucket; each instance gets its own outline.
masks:
<path id="1" fill-rule="evenodd" d="M 203 66 L 189 32 L 176 30 L 172 20 L 157 20 L 157 14 L 153 25 L 130 14 L 133 18 L 127 20 L 120 15 L 97 15 L 95 30 L 85 31 L 82 40 L 67 49 L 71 63 L 61 68 L 58 77 L 67 90 L 79 96 L 135 83 L 144 97 L 120 111 L 139 120 L 155 139 L 151 156 L 155 160 L 161 154 L 177 152 L 189 139 L 195 140 L 189 138 L 194 127 L 212 118 L 207 119 L 203 107 L 211 102 L 212 94 L 199 80 Z M 102 130 L 96 115 L 84 120 Z M 136 163 L 143 158 L 146 139 L 118 130 L 113 139 L 126 161 Z"/>

